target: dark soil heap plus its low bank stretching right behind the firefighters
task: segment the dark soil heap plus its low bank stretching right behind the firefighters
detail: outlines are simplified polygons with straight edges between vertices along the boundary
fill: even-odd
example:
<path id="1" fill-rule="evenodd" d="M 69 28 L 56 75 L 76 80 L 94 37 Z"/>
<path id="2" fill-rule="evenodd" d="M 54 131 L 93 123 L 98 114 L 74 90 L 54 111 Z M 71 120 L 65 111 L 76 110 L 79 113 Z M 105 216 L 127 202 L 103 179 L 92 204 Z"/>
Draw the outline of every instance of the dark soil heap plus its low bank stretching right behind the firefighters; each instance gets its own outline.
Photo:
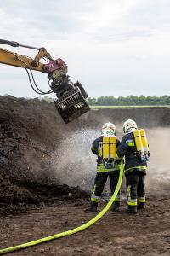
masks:
<path id="1" fill-rule="evenodd" d="M 59 143 L 77 131 L 99 131 L 108 121 L 131 118 L 139 126 L 169 126 L 169 113 L 170 108 L 100 109 L 65 125 L 53 103 L 0 97 L 0 211 L 87 197 L 79 187 L 57 183 L 51 161 Z"/>

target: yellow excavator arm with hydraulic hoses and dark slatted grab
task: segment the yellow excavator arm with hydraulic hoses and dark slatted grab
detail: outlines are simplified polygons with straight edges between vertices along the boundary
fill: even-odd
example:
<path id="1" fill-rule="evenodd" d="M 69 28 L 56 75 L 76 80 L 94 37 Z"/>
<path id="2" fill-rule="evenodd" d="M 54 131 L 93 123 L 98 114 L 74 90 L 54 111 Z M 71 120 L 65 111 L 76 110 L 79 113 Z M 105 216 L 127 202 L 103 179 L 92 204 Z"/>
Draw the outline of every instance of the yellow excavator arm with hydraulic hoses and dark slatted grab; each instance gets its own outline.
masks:
<path id="1" fill-rule="evenodd" d="M 36 70 L 42 73 L 48 73 L 48 84 L 50 90 L 48 93 L 54 92 L 57 99 L 54 101 L 55 107 L 57 108 L 60 116 L 65 121 L 65 123 L 71 122 L 73 119 L 77 119 L 83 113 L 88 112 L 90 109 L 86 98 L 88 94 L 83 89 L 80 82 L 72 83 L 67 75 L 67 65 L 65 61 L 58 58 L 54 60 L 51 55 L 47 52 L 45 48 L 37 48 L 32 46 L 27 46 L 19 44 L 14 41 L 8 41 L 0 39 L 0 44 L 8 44 L 13 47 L 25 47 L 29 49 L 37 49 L 38 53 L 34 59 L 25 55 L 19 55 L 7 49 L 0 48 L 0 63 L 12 65 L 14 67 L 26 68 L 29 75 L 29 71 Z M 40 62 L 44 59 L 47 61 L 46 64 Z M 31 73 L 33 78 L 33 75 Z M 31 77 L 29 75 L 29 80 L 31 83 Z M 33 78 L 33 82 L 35 80 Z M 31 84 L 33 88 L 33 85 Z M 36 84 L 37 87 L 37 84 Z M 33 88 L 34 89 L 34 88 Z M 42 93 L 42 90 L 35 90 L 38 94 L 48 94 Z"/>

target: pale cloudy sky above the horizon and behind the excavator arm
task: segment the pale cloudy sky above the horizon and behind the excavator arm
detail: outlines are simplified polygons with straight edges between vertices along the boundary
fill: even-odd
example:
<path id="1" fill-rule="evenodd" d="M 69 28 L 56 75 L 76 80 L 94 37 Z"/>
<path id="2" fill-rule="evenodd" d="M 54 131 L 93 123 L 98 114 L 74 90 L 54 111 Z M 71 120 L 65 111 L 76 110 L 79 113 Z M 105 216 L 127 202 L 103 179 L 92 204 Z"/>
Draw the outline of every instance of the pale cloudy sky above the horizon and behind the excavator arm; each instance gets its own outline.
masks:
<path id="1" fill-rule="evenodd" d="M 169 14 L 169 0 L 1 0 L 0 38 L 62 58 L 90 97 L 162 96 L 170 84 Z M 34 76 L 48 91 L 47 74 Z M 37 97 L 23 68 L 0 64 L 0 84 L 1 96 Z"/>

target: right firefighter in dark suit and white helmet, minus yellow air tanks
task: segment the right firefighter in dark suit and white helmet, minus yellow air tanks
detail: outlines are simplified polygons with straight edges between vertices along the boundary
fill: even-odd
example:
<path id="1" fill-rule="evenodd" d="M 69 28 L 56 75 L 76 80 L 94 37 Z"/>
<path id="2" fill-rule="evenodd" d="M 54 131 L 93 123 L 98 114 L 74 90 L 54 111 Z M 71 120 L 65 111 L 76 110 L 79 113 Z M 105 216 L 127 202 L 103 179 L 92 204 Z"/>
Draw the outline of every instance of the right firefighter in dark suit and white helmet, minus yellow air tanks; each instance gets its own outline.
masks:
<path id="1" fill-rule="evenodd" d="M 132 119 L 123 125 L 122 142 L 117 148 L 119 157 L 125 156 L 125 177 L 127 183 L 127 212 L 137 213 L 138 209 L 145 207 L 144 177 L 147 170 L 146 158 L 137 152 L 133 132 L 138 127 Z"/>

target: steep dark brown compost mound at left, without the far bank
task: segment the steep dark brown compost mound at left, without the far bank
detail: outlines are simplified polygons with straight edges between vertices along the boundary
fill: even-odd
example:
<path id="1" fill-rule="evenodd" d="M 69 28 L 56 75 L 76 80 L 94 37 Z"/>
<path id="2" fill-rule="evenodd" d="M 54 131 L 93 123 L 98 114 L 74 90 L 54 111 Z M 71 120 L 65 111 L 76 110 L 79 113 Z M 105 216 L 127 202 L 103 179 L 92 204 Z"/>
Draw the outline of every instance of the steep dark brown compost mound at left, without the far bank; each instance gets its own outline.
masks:
<path id="1" fill-rule="evenodd" d="M 0 97 L 0 209 L 26 211 L 44 203 L 87 197 L 79 187 L 59 185 L 50 168 L 59 141 L 74 129 L 38 99 Z"/>

